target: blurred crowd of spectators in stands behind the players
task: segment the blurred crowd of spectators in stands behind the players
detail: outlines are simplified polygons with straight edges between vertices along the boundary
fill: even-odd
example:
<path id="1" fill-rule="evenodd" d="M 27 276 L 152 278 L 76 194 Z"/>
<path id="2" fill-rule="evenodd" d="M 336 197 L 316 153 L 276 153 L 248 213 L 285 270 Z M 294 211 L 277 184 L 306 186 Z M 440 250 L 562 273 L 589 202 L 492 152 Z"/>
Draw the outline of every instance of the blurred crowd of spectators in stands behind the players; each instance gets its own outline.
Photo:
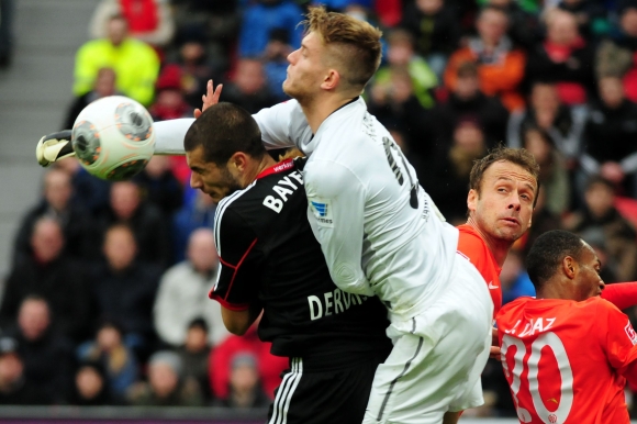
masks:
<path id="1" fill-rule="evenodd" d="M 77 108 L 100 96 L 93 87 L 91 78 L 96 75 L 90 75 L 90 64 L 76 70 L 76 55 L 92 37 L 104 37 L 100 29 L 118 2 L 128 18 L 135 13 L 139 16 L 139 10 L 142 15 L 152 16 L 132 26 L 139 31 L 135 36 L 153 45 L 159 59 L 149 58 L 144 66 L 150 74 L 156 66 L 156 75 L 148 85 L 142 77 L 143 82 L 134 82 L 133 88 L 121 86 L 118 90 L 149 107 L 156 120 L 191 115 L 203 92 L 201 82 L 211 76 L 216 82 L 226 83 L 222 100 L 237 102 L 250 111 L 280 101 L 278 87 L 281 76 L 284 78 L 284 57 L 298 45 L 295 23 L 299 12 L 310 3 L 309 0 L 0 0 L 0 422 L 262 422 L 264 402 L 267 404 L 271 397 L 284 364 L 272 359 L 267 346 L 256 341 L 254 333 L 244 338 L 227 337 L 220 322 L 219 306 L 204 302 L 208 287 L 194 300 L 187 300 L 192 303 L 181 304 L 176 299 L 170 303 L 171 294 L 165 294 L 168 289 L 163 291 L 171 282 L 167 269 L 177 269 L 176 264 L 183 259 L 192 261 L 185 257 L 188 237 L 197 227 L 206 226 L 214 214 L 212 205 L 188 189 L 188 171 L 182 160 L 158 163 L 154 171 L 136 181 L 142 187 L 139 192 L 124 186 L 118 189 L 123 197 L 141 196 L 137 200 L 141 205 L 135 204 L 132 213 L 144 209 L 146 214 L 142 221 L 149 223 L 161 215 L 148 212 L 150 209 L 164 212 L 161 220 L 153 221 L 158 226 L 148 224 L 139 228 L 146 232 L 143 236 L 135 233 L 141 245 L 137 258 L 156 259 L 154 266 L 160 270 L 143 269 L 144 275 L 153 277 L 148 277 L 149 289 L 144 289 L 139 306 L 131 300 L 133 306 L 122 312 L 105 301 L 113 293 L 104 284 L 126 287 L 136 281 L 102 278 L 110 272 L 111 263 L 96 268 L 104 269 L 102 275 L 96 275 L 94 269 L 78 271 L 81 275 L 78 281 L 65 281 L 62 274 L 47 281 L 47 292 L 37 290 L 42 275 L 30 274 L 41 265 L 31 257 L 35 249 L 31 238 L 34 222 L 51 215 L 52 201 L 49 194 L 43 194 L 43 180 L 55 175 L 36 165 L 34 146 L 44 134 L 68 127 Z M 515 246 L 503 269 L 505 301 L 533 293 L 524 270 L 524 254 L 533 237 L 556 227 L 575 231 L 594 245 L 605 263 L 607 282 L 637 280 L 634 230 L 637 222 L 637 104 L 634 103 L 637 101 L 637 1 L 326 2 L 383 27 L 388 62 L 369 86 L 366 99 L 370 111 L 402 143 L 425 189 L 432 192 L 449 221 L 462 221 L 468 169 L 471 160 L 483 155 L 488 147 L 500 141 L 514 147 L 526 146 L 543 163 L 545 201 L 534 217 L 532 233 Z M 480 8 L 488 4 L 505 12 L 491 10 L 480 15 Z M 136 7 L 142 9 L 135 12 Z M 561 11 L 546 13 L 552 7 Z M 426 11 L 427 8 L 431 10 Z M 276 11 L 275 18 L 268 15 L 271 10 Z M 479 16 L 483 18 L 481 26 L 476 25 Z M 506 20 L 512 22 L 509 27 Z M 11 54 L 3 56 L 5 38 L 2 36 L 8 21 L 14 43 Z M 270 27 L 262 30 L 261 22 L 268 22 Z M 421 25 L 423 22 L 427 24 Z M 427 33 L 426 29 L 445 31 Z M 424 32 L 420 33 L 421 30 Z M 496 46 L 493 51 L 483 48 L 490 37 Z M 141 63 L 135 60 L 142 60 L 148 52 L 147 47 L 141 48 L 127 65 L 135 67 Z M 90 63 L 90 58 L 83 60 Z M 161 68 L 157 75 L 159 63 Z M 87 72 L 88 86 L 87 80 L 81 80 Z M 82 78 L 78 77 L 80 74 Z M 111 88 L 112 76 L 109 71 L 99 74 Z M 146 90 L 135 91 L 139 87 Z M 614 166 L 617 164 L 623 167 L 619 171 Z M 102 257 L 102 237 L 105 228 L 121 220 L 119 214 L 125 211 L 109 204 L 113 202 L 109 200 L 109 187 L 104 189 L 87 180 L 71 165 L 59 169 L 72 175 L 75 194 L 80 189 L 88 190 L 85 193 L 94 194 L 91 201 L 100 203 L 82 205 L 96 210 L 91 209 L 93 213 L 88 214 L 91 216 L 88 226 L 80 231 L 83 233 L 75 234 L 82 241 L 67 243 L 68 252 L 64 255 L 91 265 L 92 260 L 112 261 L 113 258 Z M 68 185 L 64 178 L 59 182 L 59 169 L 57 182 Z M 603 178 L 586 182 L 597 174 Z M 53 181 L 54 177 L 51 178 Z M 155 204 L 148 205 L 152 201 Z M 69 224 L 68 215 L 64 216 L 64 237 L 67 237 L 67 227 L 77 222 Z M 158 228 L 170 228 L 174 234 L 163 239 L 153 238 L 160 232 Z M 201 235 L 203 255 L 205 237 Z M 189 278 L 195 284 L 210 286 L 214 264 L 201 267 L 210 269 Z M 66 280 L 76 280 L 71 278 L 75 274 L 66 276 Z M 79 286 L 72 286 L 76 283 Z M 65 333 L 64 337 L 57 338 L 55 333 L 56 337 L 47 339 L 46 349 L 25 338 L 24 328 L 15 326 L 19 311 L 22 313 L 25 309 L 23 301 L 31 294 L 29 290 L 48 302 L 45 308 L 54 315 L 51 328 Z M 77 308 L 83 304 L 79 292 L 88 299 L 89 309 Z M 123 295 L 121 302 L 113 302 L 115 306 L 130 300 L 126 293 Z M 32 309 L 37 310 L 36 301 L 32 301 Z M 203 310 L 212 312 L 186 314 Z M 108 320 L 104 321 L 113 313 L 139 311 L 143 328 L 133 331 L 125 320 L 111 322 L 113 326 L 109 327 Z M 635 325 L 635 311 L 625 312 Z M 63 315 L 67 319 L 65 325 L 60 324 Z M 53 330 L 49 332 L 46 324 L 48 335 Z M 112 336 L 112 332 L 108 333 L 112 330 L 118 339 L 112 350 L 120 356 L 110 356 L 99 339 L 107 334 Z M 203 343 L 197 342 L 198 331 L 204 332 Z M 36 342 L 40 337 L 35 337 Z M 46 355 L 37 357 L 44 350 Z M 15 362 L 7 365 L 4 360 L 9 356 L 22 360 L 24 370 L 20 368 L 16 372 Z M 124 358 L 123 365 L 113 366 L 115 356 Z M 149 383 L 149 375 L 153 365 L 158 362 L 172 366 L 179 377 L 179 393 L 170 401 L 153 394 L 155 388 Z M 37 368 L 43 364 L 46 369 L 41 372 Z M 116 395 L 104 394 L 108 390 L 102 388 L 100 395 L 104 398 L 82 398 L 76 379 L 83 367 L 92 367 L 102 384 Z M 261 403 L 253 404 L 256 408 L 248 411 L 228 401 L 231 373 L 238 367 L 253 369 L 255 382 L 250 390 L 262 395 Z M 64 372 L 53 376 L 51 370 L 56 368 Z M 192 375 L 183 371 L 185 368 Z M 18 398 L 5 394 L 3 384 L 12 373 L 20 381 L 25 379 L 26 387 L 47 387 L 55 393 L 36 402 L 44 406 L 11 406 L 11 399 Z M 197 380 L 194 386 L 185 383 L 190 377 Z M 468 412 L 461 422 L 516 423 L 498 364 L 488 366 L 484 387 L 488 406 Z M 627 389 L 630 408 L 632 389 Z M 25 403 L 24 398 L 15 403 Z M 159 404 L 164 408 L 156 408 Z"/>

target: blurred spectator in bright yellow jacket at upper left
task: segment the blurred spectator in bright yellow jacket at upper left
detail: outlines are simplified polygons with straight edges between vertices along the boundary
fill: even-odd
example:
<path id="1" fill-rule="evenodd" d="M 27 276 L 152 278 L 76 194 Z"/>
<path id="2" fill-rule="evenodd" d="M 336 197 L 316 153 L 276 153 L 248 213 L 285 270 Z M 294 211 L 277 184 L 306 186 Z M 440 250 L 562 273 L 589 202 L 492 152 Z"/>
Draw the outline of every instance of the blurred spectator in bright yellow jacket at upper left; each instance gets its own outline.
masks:
<path id="1" fill-rule="evenodd" d="M 127 23 L 121 15 L 109 20 L 107 38 L 90 41 L 79 48 L 74 93 L 82 96 L 90 91 L 98 71 L 104 67 L 115 70 L 119 91 L 144 105 L 150 104 L 159 74 L 159 57 L 146 43 L 128 37 Z"/>

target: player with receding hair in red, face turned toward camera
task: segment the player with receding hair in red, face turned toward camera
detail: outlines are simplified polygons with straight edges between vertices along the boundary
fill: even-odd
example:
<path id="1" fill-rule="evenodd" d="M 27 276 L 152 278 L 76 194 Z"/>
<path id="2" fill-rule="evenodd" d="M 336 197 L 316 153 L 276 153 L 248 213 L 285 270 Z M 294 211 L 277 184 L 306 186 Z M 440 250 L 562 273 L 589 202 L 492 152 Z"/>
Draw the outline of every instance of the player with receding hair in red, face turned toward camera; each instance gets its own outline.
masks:
<path id="1" fill-rule="evenodd" d="M 458 250 L 471 260 L 493 300 L 493 316 L 502 306 L 500 271 L 515 241 L 532 224 L 539 166 L 524 148 L 496 147 L 476 161 L 469 177 L 469 219 L 459 225 Z M 602 297 L 617 308 L 637 304 L 637 282 L 608 286 Z"/>

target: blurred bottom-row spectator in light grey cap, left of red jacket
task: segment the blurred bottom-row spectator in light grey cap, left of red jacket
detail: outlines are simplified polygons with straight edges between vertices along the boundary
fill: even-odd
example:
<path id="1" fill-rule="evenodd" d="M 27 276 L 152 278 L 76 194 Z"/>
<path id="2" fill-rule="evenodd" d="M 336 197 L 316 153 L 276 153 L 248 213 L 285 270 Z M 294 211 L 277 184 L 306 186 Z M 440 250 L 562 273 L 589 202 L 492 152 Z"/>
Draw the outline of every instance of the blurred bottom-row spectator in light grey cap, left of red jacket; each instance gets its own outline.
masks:
<path id="1" fill-rule="evenodd" d="M 197 381 L 185 379 L 183 365 L 172 350 L 160 350 L 148 359 L 148 382 L 128 391 L 128 402 L 137 406 L 201 406 L 203 398 Z"/>

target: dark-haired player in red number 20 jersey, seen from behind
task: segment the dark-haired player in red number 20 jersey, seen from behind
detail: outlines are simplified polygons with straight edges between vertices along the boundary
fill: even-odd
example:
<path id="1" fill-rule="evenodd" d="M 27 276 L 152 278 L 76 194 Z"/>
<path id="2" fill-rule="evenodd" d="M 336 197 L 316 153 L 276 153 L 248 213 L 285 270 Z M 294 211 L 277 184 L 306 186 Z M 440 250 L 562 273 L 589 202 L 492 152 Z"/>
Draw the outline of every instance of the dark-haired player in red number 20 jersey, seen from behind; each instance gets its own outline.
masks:
<path id="1" fill-rule="evenodd" d="M 577 235 L 550 231 L 527 256 L 537 298 L 500 311 L 502 362 L 522 423 L 629 423 L 624 387 L 637 383 L 637 334 L 601 299 L 600 259 Z"/>

